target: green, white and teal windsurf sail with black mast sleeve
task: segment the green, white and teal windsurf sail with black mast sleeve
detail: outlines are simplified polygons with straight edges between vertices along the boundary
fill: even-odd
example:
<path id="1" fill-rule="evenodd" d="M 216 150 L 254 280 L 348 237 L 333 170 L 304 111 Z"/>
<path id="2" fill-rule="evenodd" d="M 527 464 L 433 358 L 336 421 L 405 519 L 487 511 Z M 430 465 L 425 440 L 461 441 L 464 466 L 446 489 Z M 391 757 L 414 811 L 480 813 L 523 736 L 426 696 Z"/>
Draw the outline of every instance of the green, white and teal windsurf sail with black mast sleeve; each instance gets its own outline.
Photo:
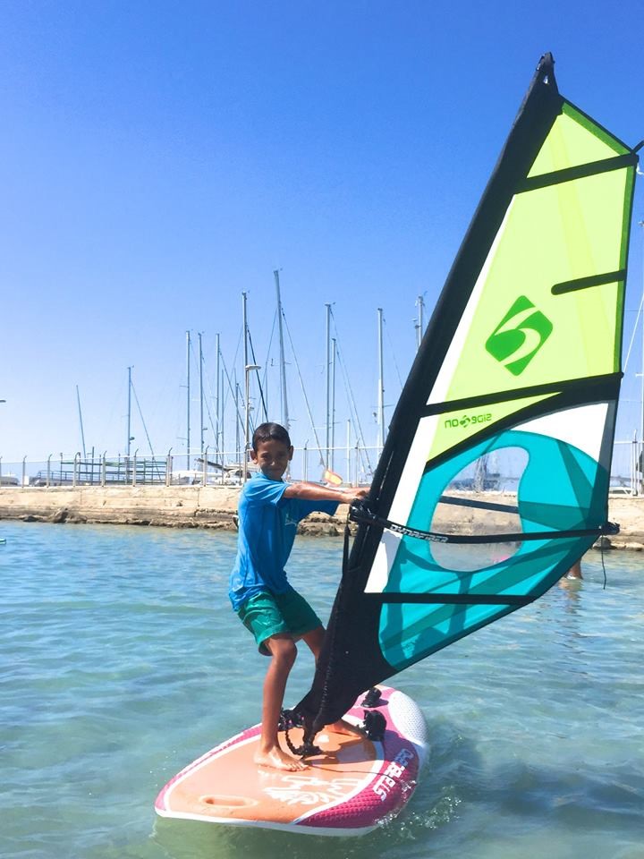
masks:
<path id="1" fill-rule="evenodd" d="M 639 148 L 563 98 L 552 55 L 542 57 L 369 499 L 352 508 L 358 531 L 297 708 L 314 732 L 369 686 L 537 599 L 611 531 Z M 516 500 L 473 497 L 492 457 L 497 475 L 513 474 Z M 460 527 L 441 527 L 448 508 Z"/>

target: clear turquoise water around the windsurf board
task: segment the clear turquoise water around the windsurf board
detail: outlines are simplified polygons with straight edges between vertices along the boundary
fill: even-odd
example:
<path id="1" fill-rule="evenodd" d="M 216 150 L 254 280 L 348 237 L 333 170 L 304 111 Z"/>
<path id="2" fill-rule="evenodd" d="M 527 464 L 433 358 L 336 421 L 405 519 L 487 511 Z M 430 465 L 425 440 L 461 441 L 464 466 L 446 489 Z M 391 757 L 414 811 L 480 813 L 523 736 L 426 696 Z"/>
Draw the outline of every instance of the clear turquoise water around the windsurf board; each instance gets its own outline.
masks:
<path id="1" fill-rule="evenodd" d="M 642 859 L 644 557 L 404 672 L 432 742 L 406 812 L 364 838 L 156 819 L 165 781 L 258 720 L 266 661 L 233 616 L 234 535 L 0 523 L 0 855 L 49 859 Z M 298 538 L 326 617 L 339 540 Z M 302 651 L 296 701 L 312 662 Z"/>

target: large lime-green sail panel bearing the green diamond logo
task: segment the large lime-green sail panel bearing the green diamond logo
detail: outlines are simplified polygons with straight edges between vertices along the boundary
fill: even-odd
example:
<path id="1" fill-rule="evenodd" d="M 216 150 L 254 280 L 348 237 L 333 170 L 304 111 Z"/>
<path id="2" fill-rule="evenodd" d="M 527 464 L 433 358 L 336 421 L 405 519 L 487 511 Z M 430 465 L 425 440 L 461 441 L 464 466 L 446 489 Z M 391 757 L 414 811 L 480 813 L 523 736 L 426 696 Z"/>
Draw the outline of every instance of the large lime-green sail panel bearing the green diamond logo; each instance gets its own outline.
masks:
<path id="1" fill-rule="evenodd" d="M 623 167 L 513 198 L 428 402 L 618 369 L 629 173 Z M 611 274 L 595 288 L 553 292 Z"/>

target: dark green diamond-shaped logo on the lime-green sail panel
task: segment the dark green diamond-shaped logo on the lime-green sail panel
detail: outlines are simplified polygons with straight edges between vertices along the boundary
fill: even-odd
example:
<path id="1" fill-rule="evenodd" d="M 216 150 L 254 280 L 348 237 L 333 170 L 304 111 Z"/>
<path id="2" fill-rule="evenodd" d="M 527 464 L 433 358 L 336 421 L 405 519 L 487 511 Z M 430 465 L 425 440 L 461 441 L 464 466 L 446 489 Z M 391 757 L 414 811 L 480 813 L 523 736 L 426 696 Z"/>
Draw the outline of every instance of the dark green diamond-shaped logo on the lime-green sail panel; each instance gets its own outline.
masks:
<path id="1" fill-rule="evenodd" d="M 520 295 L 487 338 L 486 350 L 514 376 L 521 376 L 552 329 L 550 319 Z"/>

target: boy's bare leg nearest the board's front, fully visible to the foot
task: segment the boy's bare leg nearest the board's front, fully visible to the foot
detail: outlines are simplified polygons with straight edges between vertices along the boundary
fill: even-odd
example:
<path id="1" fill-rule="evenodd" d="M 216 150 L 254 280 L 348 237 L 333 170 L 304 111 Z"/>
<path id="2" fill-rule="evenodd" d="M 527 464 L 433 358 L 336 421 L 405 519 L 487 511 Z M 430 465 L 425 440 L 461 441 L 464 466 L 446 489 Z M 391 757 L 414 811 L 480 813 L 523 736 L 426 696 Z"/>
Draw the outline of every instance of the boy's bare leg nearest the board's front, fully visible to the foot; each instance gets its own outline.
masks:
<path id="1" fill-rule="evenodd" d="M 295 642 L 288 634 L 271 635 L 263 642 L 271 661 L 264 680 L 262 732 L 255 762 L 277 770 L 305 770 L 307 765 L 283 752 L 277 741 L 277 724 L 284 702 L 286 681 L 297 655 Z"/>

